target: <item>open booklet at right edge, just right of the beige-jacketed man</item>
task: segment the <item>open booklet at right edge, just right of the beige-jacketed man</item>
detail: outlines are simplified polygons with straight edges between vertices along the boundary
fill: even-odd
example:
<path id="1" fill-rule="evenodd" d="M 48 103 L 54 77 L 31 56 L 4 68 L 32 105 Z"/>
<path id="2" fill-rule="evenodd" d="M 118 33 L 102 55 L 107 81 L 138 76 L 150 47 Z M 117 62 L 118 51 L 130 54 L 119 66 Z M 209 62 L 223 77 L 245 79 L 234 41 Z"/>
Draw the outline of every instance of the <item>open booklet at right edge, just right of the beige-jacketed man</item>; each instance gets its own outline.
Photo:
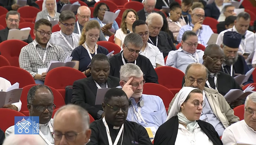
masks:
<path id="1" fill-rule="evenodd" d="M 255 89 L 255 87 L 253 87 L 251 85 L 248 86 L 246 89 L 244 89 L 244 91 L 239 90 L 239 89 L 231 89 L 227 92 L 227 94 L 224 96 L 224 98 L 226 99 L 226 101 L 228 103 L 231 103 L 236 99 L 246 98 L 248 95 L 255 92 L 255 91 L 252 91 L 253 89 Z"/>

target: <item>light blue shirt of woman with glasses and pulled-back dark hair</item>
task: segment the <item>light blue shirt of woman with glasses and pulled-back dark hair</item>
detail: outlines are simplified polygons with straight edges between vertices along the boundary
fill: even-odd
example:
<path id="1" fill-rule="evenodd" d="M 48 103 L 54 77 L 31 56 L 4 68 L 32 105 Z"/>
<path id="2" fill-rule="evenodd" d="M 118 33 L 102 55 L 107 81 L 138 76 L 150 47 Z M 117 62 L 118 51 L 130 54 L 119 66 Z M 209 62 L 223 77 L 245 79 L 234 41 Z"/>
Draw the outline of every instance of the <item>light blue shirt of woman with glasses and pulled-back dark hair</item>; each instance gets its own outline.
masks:
<path id="1" fill-rule="evenodd" d="M 198 63 L 202 64 L 204 51 L 196 50 L 196 53 L 198 55 Z M 189 64 L 197 62 L 196 53 L 191 54 L 179 47 L 178 50 L 169 52 L 165 66 L 177 68 L 185 73 L 185 70 Z"/>

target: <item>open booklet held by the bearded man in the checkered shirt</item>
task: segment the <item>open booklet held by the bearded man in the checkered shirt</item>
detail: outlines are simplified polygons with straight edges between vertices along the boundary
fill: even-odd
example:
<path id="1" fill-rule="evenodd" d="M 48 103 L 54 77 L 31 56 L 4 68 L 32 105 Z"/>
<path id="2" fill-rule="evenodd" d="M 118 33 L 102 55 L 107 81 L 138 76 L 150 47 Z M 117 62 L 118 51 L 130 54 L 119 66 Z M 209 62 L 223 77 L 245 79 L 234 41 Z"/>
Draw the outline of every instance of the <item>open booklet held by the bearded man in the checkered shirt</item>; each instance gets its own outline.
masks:
<path id="1" fill-rule="evenodd" d="M 48 68 L 38 68 L 38 74 L 41 75 L 43 72 L 49 72 L 50 70 L 56 68 L 56 67 L 62 67 L 62 66 L 66 66 L 66 67 L 74 67 L 76 65 L 75 62 L 71 62 L 72 60 L 72 56 L 71 57 L 67 57 L 65 62 L 58 62 L 58 61 L 50 61 Z"/>

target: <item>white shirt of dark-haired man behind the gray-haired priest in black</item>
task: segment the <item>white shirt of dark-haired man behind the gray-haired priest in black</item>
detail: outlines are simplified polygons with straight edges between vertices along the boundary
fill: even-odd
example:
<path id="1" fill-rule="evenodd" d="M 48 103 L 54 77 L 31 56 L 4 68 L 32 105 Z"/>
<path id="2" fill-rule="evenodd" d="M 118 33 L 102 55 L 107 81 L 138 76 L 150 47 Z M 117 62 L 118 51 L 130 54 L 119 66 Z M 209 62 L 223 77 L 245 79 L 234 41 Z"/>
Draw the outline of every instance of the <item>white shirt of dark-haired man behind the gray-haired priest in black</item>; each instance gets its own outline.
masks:
<path id="1" fill-rule="evenodd" d="M 146 48 L 141 55 L 147 57 L 152 63 L 153 67 L 156 68 L 156 64 L 164 66 L 164 56 L 160 50 L 151 43 L 146 44 Z"/>

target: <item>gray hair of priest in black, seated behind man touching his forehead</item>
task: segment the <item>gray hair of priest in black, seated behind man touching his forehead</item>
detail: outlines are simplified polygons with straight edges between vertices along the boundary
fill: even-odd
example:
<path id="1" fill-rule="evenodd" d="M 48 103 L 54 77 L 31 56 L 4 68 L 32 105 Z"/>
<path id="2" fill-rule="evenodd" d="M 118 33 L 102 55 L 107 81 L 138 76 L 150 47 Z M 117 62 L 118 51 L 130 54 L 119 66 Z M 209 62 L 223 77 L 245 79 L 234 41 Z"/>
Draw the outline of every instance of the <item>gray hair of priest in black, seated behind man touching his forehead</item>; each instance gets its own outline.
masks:
<path id="1" fill-rule="evenodd" d="M 139 34 L 136 33 L 129 33 L 124 38 L 124 45 L 127 46 L 128 44 L 132 44 L 135 47 L 142 47 L 143 40 Z"/>

